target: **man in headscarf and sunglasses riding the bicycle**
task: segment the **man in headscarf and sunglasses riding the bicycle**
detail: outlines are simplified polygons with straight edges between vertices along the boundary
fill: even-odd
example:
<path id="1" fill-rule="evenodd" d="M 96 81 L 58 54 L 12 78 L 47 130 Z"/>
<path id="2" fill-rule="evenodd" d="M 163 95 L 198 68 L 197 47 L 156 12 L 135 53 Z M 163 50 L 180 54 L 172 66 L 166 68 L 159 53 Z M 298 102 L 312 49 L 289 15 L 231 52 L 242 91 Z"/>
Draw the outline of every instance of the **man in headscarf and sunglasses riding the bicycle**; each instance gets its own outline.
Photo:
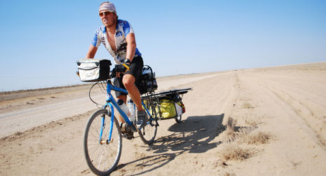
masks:
<path id="1" fill-rule="evenodd" d="M 147 122 L 147 114 L 142 107 L 140 91 L 135 86 L 137 79 L 142 74 L 144 63 L 142 54 L 136 47 L 133 27 L 128 21 L 118 19 L 116 7 L 109 1 L 100 5 L 99 15 L 103 26 L 95 31 L 86 58 L 94 58 L 98 46 L 103 43 L 111 56 L 114 57 L 117 70 L 120 70 L 116 74 L 114 85 L 128 90 L 137 108 L 137 124 L 144 126 Z M 125 67 L 122 66 L 123 63 L 130 68 L 127 72 L 125 72 Z M 127 95 L 124 93 L 116 91 L 116 97 L 118 100 L 123 100 L 124 103 L 127 102 Z M 128 139 L 133 138 L 133 132 L 128 123 L 125 123 L 121 116 L 118 119 L 124 136 Z"/>

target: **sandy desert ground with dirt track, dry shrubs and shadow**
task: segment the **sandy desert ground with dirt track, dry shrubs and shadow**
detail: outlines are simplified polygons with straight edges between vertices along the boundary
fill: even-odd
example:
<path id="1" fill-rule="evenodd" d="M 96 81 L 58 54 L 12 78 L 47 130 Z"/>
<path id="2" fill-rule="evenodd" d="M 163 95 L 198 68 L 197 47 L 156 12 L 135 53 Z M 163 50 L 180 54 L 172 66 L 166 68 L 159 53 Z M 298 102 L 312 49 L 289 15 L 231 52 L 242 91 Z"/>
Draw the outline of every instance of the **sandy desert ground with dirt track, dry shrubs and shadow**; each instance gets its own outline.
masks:
<path id="1" fill-rule="evenodd" d="M 326 62 L 168 76 L 158 86 L 193 88 L 182 123 L 159 121 L 151 146 L 124 139 L 111 175 L 326 175 Z M 82 149 L 96 110 L 89 88 L 0 94 L 0 175 L 93 175 Z"/>

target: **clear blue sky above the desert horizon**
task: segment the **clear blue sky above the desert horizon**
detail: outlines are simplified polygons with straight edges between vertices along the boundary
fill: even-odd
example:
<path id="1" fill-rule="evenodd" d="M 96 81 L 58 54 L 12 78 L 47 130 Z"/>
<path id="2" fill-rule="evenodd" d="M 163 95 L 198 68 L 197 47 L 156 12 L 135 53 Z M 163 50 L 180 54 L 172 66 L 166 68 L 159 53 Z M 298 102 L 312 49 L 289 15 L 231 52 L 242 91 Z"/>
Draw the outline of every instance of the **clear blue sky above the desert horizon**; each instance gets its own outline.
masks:
<path id="1" fill-rule="evenodd" d="M 326 61 L 326 1 L 111 1 L 156 76 Z M 102 1 L 0 0 L 0 91 L 81 83 Z M 101 45 L 95 58 L 113 62 Z M 158 85 L 159 86 L 159 85 Z"/>

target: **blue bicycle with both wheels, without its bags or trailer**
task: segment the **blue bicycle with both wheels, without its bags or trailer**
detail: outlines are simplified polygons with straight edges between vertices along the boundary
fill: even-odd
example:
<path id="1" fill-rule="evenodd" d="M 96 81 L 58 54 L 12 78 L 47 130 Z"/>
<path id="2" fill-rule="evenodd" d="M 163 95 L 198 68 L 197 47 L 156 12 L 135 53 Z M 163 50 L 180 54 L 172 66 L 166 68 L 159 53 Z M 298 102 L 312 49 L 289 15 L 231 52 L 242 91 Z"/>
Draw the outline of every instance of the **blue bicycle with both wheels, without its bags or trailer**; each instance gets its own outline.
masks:
<path id="1" fill-rule="evenodd" d="M 87 164 L 97 175 L 109 175 L 118 165 L 121 157 L 122 138 L 121 127 L 116 119 L 114 108 L 121 114 L 125 123 L 131 126 L 133 132 L 137 132 L 145 144 L 152 144 L 156 137 L 158 122 L 155 107 L 157 103 L 153 96 L 142 99 L 142 105 L 147 112 L 149 120 L 144 127 L 136 126 L 128 119 L 128 116 L 118 106 L 111 95 L 111 90 L 128 94 L 128 91 L 112 85 L 111 80 L 115 76 L 112 70 L 107 79 L 107 100 L 102 109 L 95 111 L 86 123 L 83 134 L 83 149 Z M 149 98 L 153 97 L 153 98 Z"/>

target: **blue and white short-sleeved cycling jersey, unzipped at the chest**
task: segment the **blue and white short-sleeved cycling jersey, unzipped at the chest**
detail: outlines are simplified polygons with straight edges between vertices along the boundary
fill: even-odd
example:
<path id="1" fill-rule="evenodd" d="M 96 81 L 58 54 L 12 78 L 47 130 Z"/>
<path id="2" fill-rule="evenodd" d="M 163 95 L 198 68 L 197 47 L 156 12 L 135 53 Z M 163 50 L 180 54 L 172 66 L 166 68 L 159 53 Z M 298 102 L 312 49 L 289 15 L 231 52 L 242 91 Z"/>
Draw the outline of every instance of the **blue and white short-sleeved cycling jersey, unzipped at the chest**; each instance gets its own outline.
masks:
<path id="1" fill-rule="evenodd" d="M 116 34 L 114 36 L 116 41 L 116 51 L 112 50 L 109 41 L 107 40 L 107 28 L 105 26 L 101 26 L 96 29 L 95 34 L 92 39 L 92 45 L 98 48 L 101 43 L 107 48 L 112 57 L 114 57 L 114 62 L 116 65 L 121 64 L 123 60 L 125 60 L 125 55 L 127 51 L 127 41 L 125 40 L 125 36 L 129 33 L 134 33 L 133 27 L 131 27 L 130 23 L 125 20 L 117 20 L 116 21 Z M 135 56 L 142 55 L 140 51 L 136 48 Z"/>

